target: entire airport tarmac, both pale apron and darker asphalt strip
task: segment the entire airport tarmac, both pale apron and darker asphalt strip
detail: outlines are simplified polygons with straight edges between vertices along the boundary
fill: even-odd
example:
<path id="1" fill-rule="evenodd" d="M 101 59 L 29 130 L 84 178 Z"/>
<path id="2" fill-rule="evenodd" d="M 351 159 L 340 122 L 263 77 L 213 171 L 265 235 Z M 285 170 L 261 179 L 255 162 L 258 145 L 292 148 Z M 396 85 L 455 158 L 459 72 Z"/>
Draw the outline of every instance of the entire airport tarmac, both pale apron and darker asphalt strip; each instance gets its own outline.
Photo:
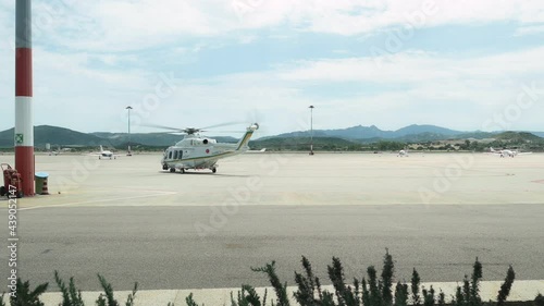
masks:
<path id="1" fill-rule="evenodd" d="M 510 264 L 519 280 L 544 279 L 544 155 L 246 154 L 215 174 L 159 160 L 36 156 L 50 195 L 18 200 L 21 276 L 52 283 L 57 269 L 82 290 L 99 289 L 97 272 L 119 290 L 236 287 L 265 285 L 249 267 L 276 260 L 293 284 L 301 255 L 321 279 L 332 256 L 353 278 L 388 247 L 404 279 L 416 267 L 423 281 L 460 281 L 477 256 L 486 280 Z"/>

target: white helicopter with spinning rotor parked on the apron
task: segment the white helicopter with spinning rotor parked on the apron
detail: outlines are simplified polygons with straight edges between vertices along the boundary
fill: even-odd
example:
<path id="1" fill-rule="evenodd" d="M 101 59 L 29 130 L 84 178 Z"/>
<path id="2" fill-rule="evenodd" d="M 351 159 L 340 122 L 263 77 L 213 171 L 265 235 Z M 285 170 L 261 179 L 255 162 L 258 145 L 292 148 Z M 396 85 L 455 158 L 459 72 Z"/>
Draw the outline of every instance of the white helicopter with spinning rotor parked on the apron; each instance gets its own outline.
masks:
<path id="1" fill-rule="evenodd" d="M 225 125 L 225 124 L 221 124 Z M 259 124 L 254 123 L 246 128 L 244 136 L 237 144 L 218 143 L 215 139 L 201 136 L 199 133 L 205 132 L 205 128 L 217 127 L 221 125 L 208 126 L 202 128 L 172 128 L 166 126 L 157 126 L 160 128 L 182 132 L 185 137 L 177 142 L 174 146 L 169 147 L 164 151 L 161 159 L 162 170 L 170 172 L 185 173 L 185 170 L 210 169 L 213 173 L 218 171 L 218 161 L 221 158 L 232 157 L 243 154 L 249 149 L 247 143 L 251 138 L 255 131 L 259 128 Z"/>

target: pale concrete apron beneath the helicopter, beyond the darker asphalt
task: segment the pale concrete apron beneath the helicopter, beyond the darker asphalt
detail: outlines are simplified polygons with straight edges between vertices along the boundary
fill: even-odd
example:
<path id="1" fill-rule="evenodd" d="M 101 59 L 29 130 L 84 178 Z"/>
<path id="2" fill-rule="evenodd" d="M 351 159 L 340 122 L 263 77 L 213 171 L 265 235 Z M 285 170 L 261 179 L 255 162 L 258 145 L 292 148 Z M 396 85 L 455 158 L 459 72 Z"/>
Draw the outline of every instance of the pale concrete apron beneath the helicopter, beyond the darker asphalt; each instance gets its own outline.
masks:
<path id="1" fill-rule="evenodd" d="M 246 154 L 221 160 L 217 174 L 209 170 L 162 171 L 159 155 L 115 160 L 37 156 L 36 164 L 36 171 L 50 174 L 49 192 L 54 196 L 24 199 L 25 208 L 210 206 L 233 200 L 261 206 L 544 201 L 544 155 L 536 154 L 516 158 L 486 154 L 401 158 L 395 154 Z"/>

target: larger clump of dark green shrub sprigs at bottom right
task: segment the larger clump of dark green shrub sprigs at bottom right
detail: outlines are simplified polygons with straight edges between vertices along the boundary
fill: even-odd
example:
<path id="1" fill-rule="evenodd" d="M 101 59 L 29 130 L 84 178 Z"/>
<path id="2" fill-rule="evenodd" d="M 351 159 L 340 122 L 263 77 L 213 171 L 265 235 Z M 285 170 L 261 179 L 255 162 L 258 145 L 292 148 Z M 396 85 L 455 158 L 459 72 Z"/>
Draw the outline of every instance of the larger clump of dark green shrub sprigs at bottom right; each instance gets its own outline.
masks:
<path id="1" fill-rule="evenodd" d="M 360 281 L 355 278 L 354 284 L 346 284 L 344 268 L 338 258 L 333 257 L 332 265 L 327 266 L 329 279 L 332 282 L 334 292 L 327 292 L 321 289 L 319 278 L 312 271 L 310 261 L 302 256 L 304 273 L 295 271 L 295 282 L 297 291 L 294 293 L 296 302 L 301 306 L 407 306 L 409 294 L 411 293 L 411 305 L 422 306 L 444 306 L 445 294 L 441 291 L 437 295 L 433 286 L 429 290 L 421 289 L 421 279 L 416 269 L 412 271 L 410 291 L 408 284 L 397 282 L 393 294 L 393 283 L 395 280 L 395 267 L 393 257 L 386 250 L 383 259 L 383 269 L 381 278 L 378 278 L 378 271 L 373 266 L 367 269 L 367 277 Z M 458 286 L 452 305 L 454 306 L 482 306 L 480 297 L 480 282 L 482 279 L 482 264 L 475 260 L 472 267 L 472 274 L 469 279 L 465 276 L 462 286 Z M 269 281 L 276 293 L 276 305 L 289 305 L 287 297 L 287 283 L 283 284 L 275 272 L 275 262 L 272 261 L 265 267 L 254 269 L 254 271 L 267 273 Z M 514 269 L 508 269 L 505 283 L 502 286 L 497 303 L 504 303 L 509 294 L 514 282 Z M 394 298 L 393 298 L 394 297 Z M 189 295 L 186 299 L 188 306 L 198 306 Z M 265 297 L 262 299 L 264 305 Z M 255 290 L 250 286 L 243 286 L 238 292 L 238 298 L 231 298 L 232 306 L 254 305 L 260 306 L 261 299 Z M 536 303 L 536 302 L 535 302 Z M 274 305 L 274 304 L 272 304 Z M 497 305 L 499 306 L 499 305 Z M 544 306 L 544 305 L 537 305 Z"/>

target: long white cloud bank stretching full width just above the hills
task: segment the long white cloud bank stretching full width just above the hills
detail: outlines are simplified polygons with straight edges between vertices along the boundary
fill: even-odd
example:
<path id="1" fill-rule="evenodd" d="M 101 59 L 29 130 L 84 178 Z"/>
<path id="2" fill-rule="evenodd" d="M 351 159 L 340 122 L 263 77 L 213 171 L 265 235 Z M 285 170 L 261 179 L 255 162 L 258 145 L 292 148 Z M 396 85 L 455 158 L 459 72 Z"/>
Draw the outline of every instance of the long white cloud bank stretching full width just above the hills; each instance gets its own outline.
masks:
<path id="1" fill-rule="evenodd" d="M 173 95 L 161 99 L 156 109 L 133 115 L 140 122 L 180 127 L 257 121 L 262 126 L 260 135 L 270 135 L 305 130 L 307 107 L 314 105 L 316 128 L 357 124 L 398 128 L 431 123 L 478 130 L 494 113 L 515 103 L 523 84 L 537 82 L 537 89 L 544 89 L 544 63 L 539 61 L 543 52 L 535 48 L 474 59 L 405 52 L 392 56 L 382 68 L 371 58 L 325 59 L 263 72 L 177 78 Z M 141 106 L 158 79 L 157 74 L 143 70 L 97 71 L 87 65 L 86 53 L 63 59 L 37 49 L 36 57 L 36 124 L 85 132 L 124 131 L 125 106 Z M 345 83 L 354 89 L 357 84 L 375 89 L 348 89 L 333 97 L 311 94 L 316 87 Z M 544 94 L 512 128 L 539 130 L 544 115 L 542 100 Z M 137 125 L 133 128 L 149 131 Z"/>

